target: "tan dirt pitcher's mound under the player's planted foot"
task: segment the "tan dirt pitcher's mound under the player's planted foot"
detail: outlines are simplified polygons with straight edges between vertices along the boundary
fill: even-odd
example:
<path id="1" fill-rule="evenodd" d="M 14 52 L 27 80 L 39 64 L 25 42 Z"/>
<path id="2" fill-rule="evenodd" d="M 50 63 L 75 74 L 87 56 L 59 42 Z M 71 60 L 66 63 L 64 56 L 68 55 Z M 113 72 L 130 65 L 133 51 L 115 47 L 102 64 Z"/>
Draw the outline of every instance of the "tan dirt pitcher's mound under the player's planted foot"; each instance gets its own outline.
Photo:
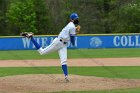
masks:
<path id="1" fill-rule="evenodd" d="M 0 93 L 30 93 L 82 90 L 108 90 L 140 87 L 139 79 L 112 79 L 70 75 L 65 83 L 63 75 L 18 75 L 0 78 Z"/>

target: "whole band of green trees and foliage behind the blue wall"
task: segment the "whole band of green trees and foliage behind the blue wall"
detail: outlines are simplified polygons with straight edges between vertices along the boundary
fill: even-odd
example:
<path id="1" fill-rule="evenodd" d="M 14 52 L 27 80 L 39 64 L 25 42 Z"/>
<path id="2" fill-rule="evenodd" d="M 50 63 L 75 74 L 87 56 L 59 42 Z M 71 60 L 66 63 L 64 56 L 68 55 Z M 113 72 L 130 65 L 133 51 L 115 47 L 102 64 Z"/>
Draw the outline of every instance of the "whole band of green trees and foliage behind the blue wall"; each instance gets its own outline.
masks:
<path id="1" fill-rule="evenodd" d="M 59 34 L 72 12 L 83 34 L 139 32 L 139 0 L 0 0 L 0 35 Z"/>

